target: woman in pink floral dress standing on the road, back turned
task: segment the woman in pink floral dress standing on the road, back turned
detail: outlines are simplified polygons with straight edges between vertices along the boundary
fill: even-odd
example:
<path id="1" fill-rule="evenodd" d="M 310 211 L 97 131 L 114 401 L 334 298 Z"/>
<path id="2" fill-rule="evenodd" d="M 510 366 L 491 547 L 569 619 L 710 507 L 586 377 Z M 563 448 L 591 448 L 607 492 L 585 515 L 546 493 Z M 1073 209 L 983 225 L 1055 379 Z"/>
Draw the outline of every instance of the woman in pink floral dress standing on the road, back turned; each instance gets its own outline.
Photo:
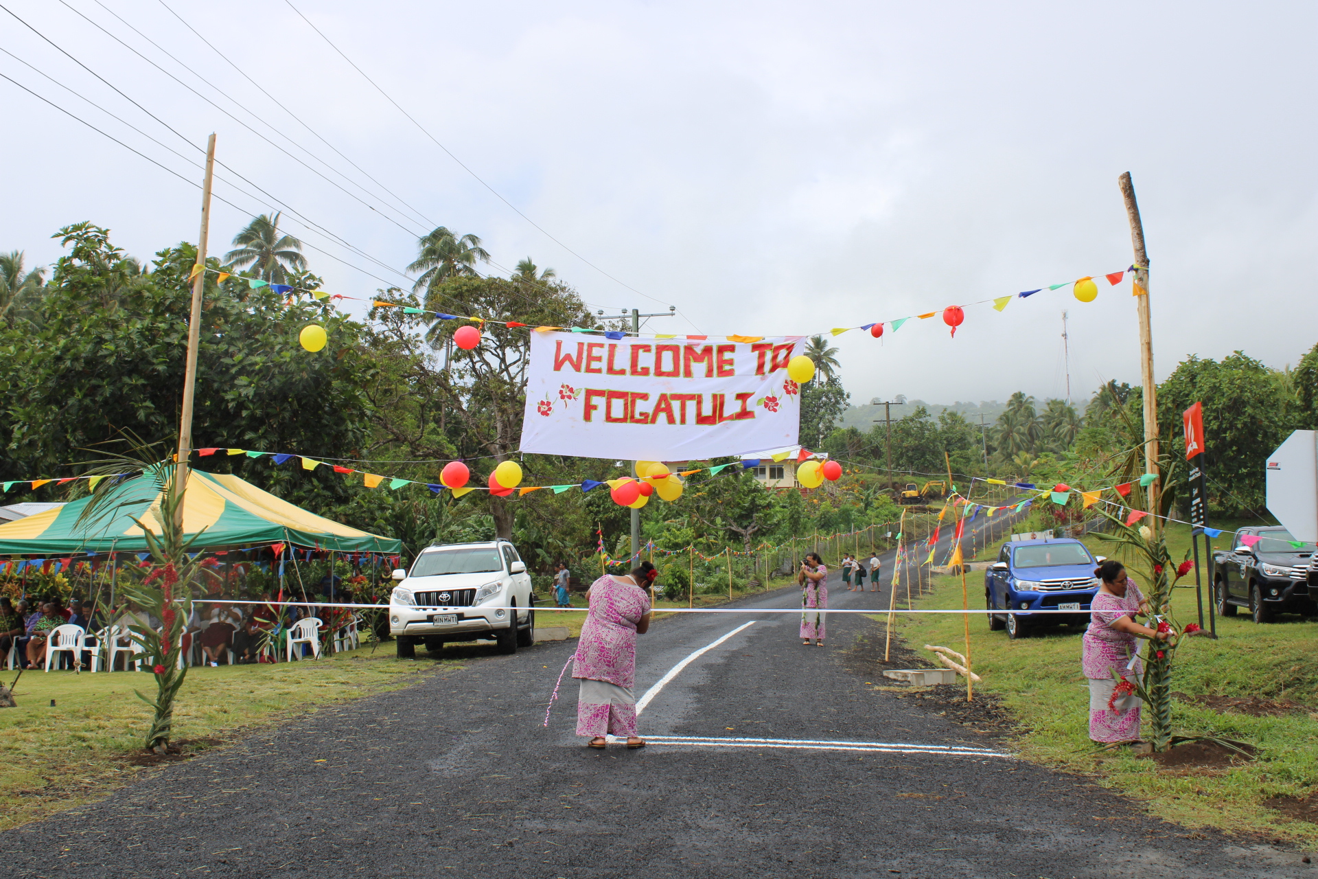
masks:
<path id="1" fill-rule="evenodd" d="M 637 635 L 650 629 L 646 589 L 655 567 L 642 561 L 630 576 L 604 575 L 590 584 L 590 606 L 581 626 L 572 676 L 581 681 L 577 696 L 577 735 L 592 737 L 590 747 L 604 747 L 605 735 L 626 735 L 627 747 L 645 747 L 637 737 L 637 698 L 631 693 L 637 672 Z"/>

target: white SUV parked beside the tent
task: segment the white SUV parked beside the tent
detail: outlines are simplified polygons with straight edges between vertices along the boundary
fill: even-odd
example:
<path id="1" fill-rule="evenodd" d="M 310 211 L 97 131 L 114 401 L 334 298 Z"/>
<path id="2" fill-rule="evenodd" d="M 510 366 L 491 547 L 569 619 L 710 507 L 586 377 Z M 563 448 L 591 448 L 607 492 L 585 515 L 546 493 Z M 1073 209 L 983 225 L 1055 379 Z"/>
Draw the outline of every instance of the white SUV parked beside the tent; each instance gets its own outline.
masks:
<path id="1" fill-rule="evenodd" d="M 439 650 L 444 642 L 493 638 L 501 654 L 531 646 L 531 575 L 507 540 L 426 547 L 411 573 L 394 571 L 394 580 L 389 634 L 399 658 L 415 656 L 416 642 Z"/>

